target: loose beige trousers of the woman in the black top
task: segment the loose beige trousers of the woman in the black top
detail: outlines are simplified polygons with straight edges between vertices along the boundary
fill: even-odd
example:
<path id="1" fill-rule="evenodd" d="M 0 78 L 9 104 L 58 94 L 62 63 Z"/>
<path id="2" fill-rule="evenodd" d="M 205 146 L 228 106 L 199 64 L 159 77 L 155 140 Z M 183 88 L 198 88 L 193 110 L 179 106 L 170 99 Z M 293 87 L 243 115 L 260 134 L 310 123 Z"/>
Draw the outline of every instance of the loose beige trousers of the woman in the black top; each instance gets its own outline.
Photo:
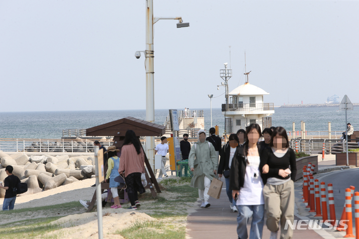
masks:
<path id="1" fill-rule="evenodd" d="M 284 230 L 286 221 L 294 222 L 294 182 L 289 180 L 281 185 L 266 184 L 263 188 L 265 208 L 267 210 L 267 228 L 271 232 L 279 230 L 280 239 L 292 239 L 293 230 L 288 227 Z"/>

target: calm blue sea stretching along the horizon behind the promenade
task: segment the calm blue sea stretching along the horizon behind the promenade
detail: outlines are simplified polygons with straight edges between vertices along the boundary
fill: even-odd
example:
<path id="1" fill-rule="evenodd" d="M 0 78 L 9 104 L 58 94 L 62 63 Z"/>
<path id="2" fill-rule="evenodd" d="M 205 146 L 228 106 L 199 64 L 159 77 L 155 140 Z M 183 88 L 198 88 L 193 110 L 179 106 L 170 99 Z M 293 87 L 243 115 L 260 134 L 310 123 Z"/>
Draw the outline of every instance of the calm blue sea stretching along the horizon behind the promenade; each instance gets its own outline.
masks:
<path id="1" fill-rule="evenodd" d="M 183 110 L 183 109 L 178 109 Z M 210 109 L 191 109 L 204 111 L 204 127 L 211 127 Z M 169 110 L 155 110 L 155 123 L 163 124 Z M 55 112 L 0 112 L 0 138 L 59 139 L 63 129 L 90 128 L 113 120 L 134 117 L 146 120 L 146 110 L 118 111 L 55 111 Z M 359 107 L 347 112 L 348 122 L 359 128 Z M 337 107 L 329 108 L 275 108 L 272 116 L 273 126 L 283 126 L 287 131 L 300 130 L 301 120 L 306 122 L 308 135 L 326 134 L 328 122 L 332 132 L 345 131 L 345 111 Z M 224 116 L 221 109 L 212 108 L 212 125 L 224 132 Z"/>

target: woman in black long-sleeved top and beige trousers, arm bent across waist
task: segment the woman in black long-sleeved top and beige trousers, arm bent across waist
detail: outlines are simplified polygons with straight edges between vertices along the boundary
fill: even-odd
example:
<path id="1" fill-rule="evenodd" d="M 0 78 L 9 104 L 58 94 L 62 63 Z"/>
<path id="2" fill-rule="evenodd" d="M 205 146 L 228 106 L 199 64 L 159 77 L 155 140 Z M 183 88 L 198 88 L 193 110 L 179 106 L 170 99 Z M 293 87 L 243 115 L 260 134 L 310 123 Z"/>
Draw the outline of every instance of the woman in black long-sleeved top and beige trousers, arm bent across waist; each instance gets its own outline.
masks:
<path id="1" fill-rule="evenodd" d="M 291 239 L 293 230 L 285 228 L 294 222 L 294 181 L 297 174 L 296 156 L 289 148 L 287 132 L 283 127 L 273 130 L 270 148 L 261 154 L 263 174 L 267 182 L 263 188 L 270 239 L 277 239 L 280 222 L 281 239 Z M 290 167 L 290 169 L 289 169 Z"/>

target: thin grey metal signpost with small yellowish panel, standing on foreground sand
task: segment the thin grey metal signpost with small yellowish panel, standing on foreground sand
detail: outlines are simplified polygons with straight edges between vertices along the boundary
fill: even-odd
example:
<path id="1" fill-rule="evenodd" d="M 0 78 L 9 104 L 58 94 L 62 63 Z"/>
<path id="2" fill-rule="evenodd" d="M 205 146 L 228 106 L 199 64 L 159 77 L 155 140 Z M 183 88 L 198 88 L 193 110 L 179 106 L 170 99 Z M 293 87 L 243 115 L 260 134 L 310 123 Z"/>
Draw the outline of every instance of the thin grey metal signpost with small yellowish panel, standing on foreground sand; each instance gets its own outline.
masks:
<path id="1" fill-rule="evenodd" d="M 104 180 L 104 165 L 103 165 L 103 149 L 99 150 L 99 146 L 95 146 L 95 165 L 96 165 L 96 203 L 97 203 L 97 220 L 99 239 L 103 239 L 102 228 L 102 199 L 101 199 L 101 183 Z"/>

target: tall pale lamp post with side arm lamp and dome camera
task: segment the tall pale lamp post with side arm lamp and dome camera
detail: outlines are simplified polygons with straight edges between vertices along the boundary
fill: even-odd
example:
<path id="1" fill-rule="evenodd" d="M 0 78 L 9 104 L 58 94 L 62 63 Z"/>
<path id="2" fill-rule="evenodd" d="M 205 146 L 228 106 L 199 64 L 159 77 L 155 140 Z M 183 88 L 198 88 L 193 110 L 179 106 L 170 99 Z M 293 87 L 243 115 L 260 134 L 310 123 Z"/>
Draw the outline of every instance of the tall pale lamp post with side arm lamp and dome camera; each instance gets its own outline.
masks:
<path id="1" fill-rule="evenodd" d="M 146 69 L 146 120 L 155 122 L 155 91 L 154 91 L 154 44 L 153 44 L 153 25 L 160 19 L 179 20 L 177 28 L 189 26 L 188 22 L 183 22 L 181 17 L 154 17 L 153 0 L 146 0 L 146 50 L 136 51 L 135 57 L 139 59 L 141 52 L 145 53 Z M 155 137 L 146 136 L 146 155 L 152 160 L 151 166 L 155 165 Z"/>

